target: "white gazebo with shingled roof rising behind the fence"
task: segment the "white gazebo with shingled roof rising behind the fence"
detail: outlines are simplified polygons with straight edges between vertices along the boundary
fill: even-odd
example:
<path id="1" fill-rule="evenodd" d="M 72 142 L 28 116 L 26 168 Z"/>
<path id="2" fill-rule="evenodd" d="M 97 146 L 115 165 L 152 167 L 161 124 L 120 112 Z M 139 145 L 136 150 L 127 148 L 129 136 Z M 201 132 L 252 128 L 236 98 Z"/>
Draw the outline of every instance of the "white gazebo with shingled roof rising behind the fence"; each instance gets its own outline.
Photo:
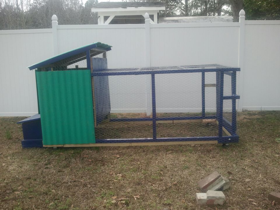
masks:
<path id="1" fill-rule="evenodd" d="M 157 13 L 165 10 L 165 4 L 156 2 L 100 2 L 91 9 L 98 12 L 98 24 L 144 23 L 145 13 L 150 15 L 150 23 L 157 23 Z"/>

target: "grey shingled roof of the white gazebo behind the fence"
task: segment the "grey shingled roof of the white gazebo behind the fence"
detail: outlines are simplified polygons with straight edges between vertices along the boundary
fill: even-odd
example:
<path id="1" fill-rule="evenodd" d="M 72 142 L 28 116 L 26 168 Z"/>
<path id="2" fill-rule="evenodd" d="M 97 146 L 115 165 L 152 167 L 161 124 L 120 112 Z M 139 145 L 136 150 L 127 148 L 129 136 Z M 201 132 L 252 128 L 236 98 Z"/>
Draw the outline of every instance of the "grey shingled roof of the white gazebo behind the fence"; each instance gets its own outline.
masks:
<path id="1" fill-rule="evenodd" d="M 161 1 L 151 2 L 99 2 L 92 8 L 127 8 L 127 7 L 162 7 L 165 4 Z"/>

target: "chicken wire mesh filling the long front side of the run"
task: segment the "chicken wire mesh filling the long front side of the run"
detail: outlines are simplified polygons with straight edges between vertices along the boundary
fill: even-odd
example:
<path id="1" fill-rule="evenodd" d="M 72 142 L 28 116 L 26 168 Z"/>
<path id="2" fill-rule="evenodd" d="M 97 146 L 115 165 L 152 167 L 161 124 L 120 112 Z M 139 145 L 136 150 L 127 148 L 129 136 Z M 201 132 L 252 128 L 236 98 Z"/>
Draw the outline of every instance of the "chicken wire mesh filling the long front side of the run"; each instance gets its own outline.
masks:
<path id="1" fill-rule="evenodd" d="M 231 100 L 219 100 L 220 92 L 217 90 L 220 89 L 221 77 L 217 77 L 216 72 L 154 74 L 153 102 L 151 74 L 122 75 L 123 72 L 137 70 L 108 69 L 93 76 L 93 83 L 108 77 L 105 92 L 110 98 L 103 98 L 103 101 L 109 101 L 110 108 L 104 118 L 97 119 L 96 139 L 156 138 L 159 140 L 155 141 L 160 141 L 162 138 L 227 136 L 219 129 L 216 119 L 221 116 L 217 111 L 220 102 Z M 223 90 L 226 95 L 232 95 L 231 76 L 227 76 L 223 76 L 226 81 Z M 104 91 L 104 86 L 96 89 L 95 97 L 97 92 Z M 229 114 L 231 108 L 226 102 L 221 113 Z M 97 107 L 95 111 L 99 115 Z M 225 118 L 230 118 L 230 115 Z M 156 125 L 153 125 L 154 119 Z"/>

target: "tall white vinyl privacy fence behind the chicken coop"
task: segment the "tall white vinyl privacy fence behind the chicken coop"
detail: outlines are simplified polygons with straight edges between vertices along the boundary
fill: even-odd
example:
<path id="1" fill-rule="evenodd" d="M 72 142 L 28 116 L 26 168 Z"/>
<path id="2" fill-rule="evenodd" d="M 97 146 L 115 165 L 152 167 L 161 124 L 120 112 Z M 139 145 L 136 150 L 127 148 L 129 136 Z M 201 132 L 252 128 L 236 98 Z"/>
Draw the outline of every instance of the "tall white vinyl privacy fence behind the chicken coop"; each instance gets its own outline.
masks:
<path id="1" fill-rule="evenodd" d="M 96 41 L 113 46 L 107 53 L 108 68 L 240 67 L 238 110 L 280 110 L 280 21 L 245 21 L 241 13 L 237 23 L 59 25 L 53 17 L 52 29 L 0 31 L 0 116 L 38 112 L 35 72 L 27 66 Z M 188 92 L 180 74 L 157 80 L 176 82 L 157 88 L 159 112 L 201 109 L 200 101 L 184 100 Z M 109 82 L 112 112 L 151 111 L 148 76 L 110 77 Z M 197 84 L 201 81 L 194 78 L 188 85 Z M 181 100 L 164 103 L 178 92 L 183 93 Z"/>

